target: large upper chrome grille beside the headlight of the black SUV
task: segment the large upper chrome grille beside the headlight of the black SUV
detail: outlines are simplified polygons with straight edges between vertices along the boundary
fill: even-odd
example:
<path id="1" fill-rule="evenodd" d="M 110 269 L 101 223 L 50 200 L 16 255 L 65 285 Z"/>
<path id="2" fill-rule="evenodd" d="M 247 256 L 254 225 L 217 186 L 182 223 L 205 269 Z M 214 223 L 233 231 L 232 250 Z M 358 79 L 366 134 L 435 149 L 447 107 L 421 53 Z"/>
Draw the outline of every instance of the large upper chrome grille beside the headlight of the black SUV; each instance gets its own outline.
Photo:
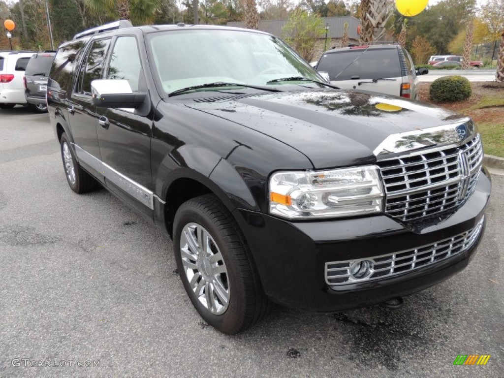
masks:
<path id="1" fill-rule="evenodd" d="M 382 160 L 385 212 L 414 221 L 456 209 L 474 192 L 483 146 L 478 135 L 462 147 Z"/>

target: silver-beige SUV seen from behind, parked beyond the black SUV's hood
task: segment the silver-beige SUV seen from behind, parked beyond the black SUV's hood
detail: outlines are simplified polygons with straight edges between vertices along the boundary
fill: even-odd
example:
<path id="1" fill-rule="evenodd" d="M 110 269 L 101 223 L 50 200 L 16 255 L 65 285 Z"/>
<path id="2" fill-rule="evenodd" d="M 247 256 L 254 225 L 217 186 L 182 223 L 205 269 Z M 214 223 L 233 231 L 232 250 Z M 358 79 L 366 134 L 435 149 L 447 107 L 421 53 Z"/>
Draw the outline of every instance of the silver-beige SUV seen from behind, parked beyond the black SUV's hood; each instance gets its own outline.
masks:
<path id="1" fill-rule="evenodd" d="M 405 98 L 418 99 L 417 75 L 413 60 L 396 44 L 352 46 L 328 50 L 322 54 L 317 71 L 327 72 L 331 84 L 346 89 L 362 89 Z"/>

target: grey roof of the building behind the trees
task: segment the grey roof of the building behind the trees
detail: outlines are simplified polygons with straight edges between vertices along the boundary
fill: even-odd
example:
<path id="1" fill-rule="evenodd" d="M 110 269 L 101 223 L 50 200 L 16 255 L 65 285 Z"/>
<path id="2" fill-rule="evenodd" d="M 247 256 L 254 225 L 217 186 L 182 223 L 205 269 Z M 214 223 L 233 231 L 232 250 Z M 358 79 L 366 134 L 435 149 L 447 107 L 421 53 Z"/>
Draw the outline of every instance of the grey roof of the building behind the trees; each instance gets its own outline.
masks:
<path id="1" fill-rule="evenodd" d="M 348 22 L 348 38 L 359 39 L 357 34 L 357 26 L 360 21 L 352 16 L 342 16 L 342 17 L 323 17 L 324 25 L 329 25 L 329 30 L 327 33 L 328 38 L 341 38 L 343 36 L 343 25 Z M 277 37 L 282 37 L 282 28 L 287 23 L 287 20 L 261 20 L 259 21 L 258 29 Z M 245 22 L 234 21 L 228 22 L 227 26 L 233 26 L 236 28 L 244 28 Z M 325 35 L 322 36 L 325 38 Z"/>

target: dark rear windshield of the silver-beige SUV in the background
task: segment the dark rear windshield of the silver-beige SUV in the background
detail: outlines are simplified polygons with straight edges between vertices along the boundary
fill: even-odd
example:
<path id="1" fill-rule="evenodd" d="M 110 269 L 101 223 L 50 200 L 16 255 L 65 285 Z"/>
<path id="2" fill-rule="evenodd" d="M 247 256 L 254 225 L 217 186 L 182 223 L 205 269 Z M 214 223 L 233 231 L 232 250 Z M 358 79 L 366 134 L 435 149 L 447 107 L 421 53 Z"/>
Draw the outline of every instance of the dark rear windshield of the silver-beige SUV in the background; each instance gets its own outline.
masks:
<path id="1" fill-rule="evenodd" d="M 397 49 L 358 49 L 329 52 L 322 56 L 317 71 L 331 80 L 381 79 L 401 76 Z"/>

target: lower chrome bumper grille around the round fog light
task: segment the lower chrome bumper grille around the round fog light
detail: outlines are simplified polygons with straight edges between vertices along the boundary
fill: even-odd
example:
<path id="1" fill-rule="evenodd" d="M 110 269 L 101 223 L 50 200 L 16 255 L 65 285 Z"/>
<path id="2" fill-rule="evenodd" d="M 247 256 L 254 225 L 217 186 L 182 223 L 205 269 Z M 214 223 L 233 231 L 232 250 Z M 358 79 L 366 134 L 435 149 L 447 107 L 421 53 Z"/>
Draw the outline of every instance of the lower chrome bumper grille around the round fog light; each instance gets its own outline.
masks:
<path id="1" fill-rule="evenodd" d="M 434 244 L 365 259 L 326 263 L 326 283 L 334 286 L 388 278 L 459 255 L 474 244 L 481 233 L 483 220 L 481 218 L 474 228 L 466 232 Z M 359 261 L 370 262 L 370 271 L 365 278 L 356 278 L 351 274 L 352 265 Z"/>

